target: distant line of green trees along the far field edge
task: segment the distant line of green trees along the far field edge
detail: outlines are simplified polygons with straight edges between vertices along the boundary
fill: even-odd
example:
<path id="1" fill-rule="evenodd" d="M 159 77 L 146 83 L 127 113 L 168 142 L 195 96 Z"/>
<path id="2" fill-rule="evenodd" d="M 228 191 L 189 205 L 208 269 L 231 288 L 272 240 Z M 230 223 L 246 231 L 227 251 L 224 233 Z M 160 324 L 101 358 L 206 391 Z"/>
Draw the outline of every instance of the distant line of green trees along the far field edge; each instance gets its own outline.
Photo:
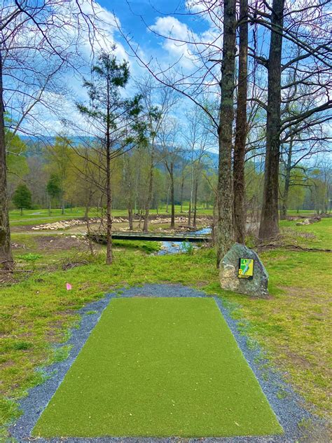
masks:
<path id="1" fill-rule="evenodd" d="M 27 143 L 20 141 L 21 153 L 24 154 L 13 158 L 13 170 L 9 168 L 8 171 L 10 208 L 38 210 L 48 207 L 50 214 L 53 208 L 61 208 L 63 214 L 70 214 L 74 207 L 88 207 L 102 213 L 104 194 L 102 189 L 97 189 L 97 185 L 92 186 L 86 179 L 89 174 L 83 160 L 86 142 L 80 145 L 79 140 L 79 137 L 73 141 L 68 136 L 58 135 L 52 144 L 38 140 Z M 193 227 L 197 208 L 213 210 L 218 179 L 216 156 L 211 151 L 205 151 L 202 156 L 199 154 L 195 150 L 179 148 L 173 167 L 174 205 L 180 208 L 185 205 L 180 212 L 188 217 L 188 226 Z M 170 173 L 165 161 L 165 151 L 157 144 L 153 162 L 153 194 L 149 205 L 149 209 L 156 210 L 157 214 L 160 208 L 165 207 L 167 213 L 172 212 Z M 25 170 L 20 175 L 21 182 L 13 172 L 18 168 L 16 162 Z M 130 229 L 133 229 L 134 214 L 140 216 L 141 228 L 144 227 L 150 162 L 151 151 L 146 146 L 137 146 L 113 161 L 111 208 L 127 210 Z M 246 218 L 257 219 L 263 201 L 263 165 L 253 160 L 247 161 L 244 174 Z M 317 214 L 331 212 L 330 161 L 321 158 L 313 166 L 299 164 L 290 171 L 288 182 L 282 165 L 279 179 L 281 219 L 286 218 L 287 210 L 314 210 Z"/>

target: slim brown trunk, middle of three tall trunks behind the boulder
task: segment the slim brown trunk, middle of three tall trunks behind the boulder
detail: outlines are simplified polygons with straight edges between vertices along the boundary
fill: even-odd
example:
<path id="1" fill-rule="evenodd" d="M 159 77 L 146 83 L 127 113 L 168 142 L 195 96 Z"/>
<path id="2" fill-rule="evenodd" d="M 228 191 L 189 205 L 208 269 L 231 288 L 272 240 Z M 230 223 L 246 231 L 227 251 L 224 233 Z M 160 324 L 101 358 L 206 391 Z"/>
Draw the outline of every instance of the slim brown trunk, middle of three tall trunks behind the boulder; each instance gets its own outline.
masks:
<path id="1" fill-rule="evenodd" d="M 247 58 L 248 58 L 248 0 L 240 0 L 240 49 L 237 88 L 236 130 L 233 160 L 234 231 L 235 241 L 245 241 L 244 158 L 247 139 Z"/>

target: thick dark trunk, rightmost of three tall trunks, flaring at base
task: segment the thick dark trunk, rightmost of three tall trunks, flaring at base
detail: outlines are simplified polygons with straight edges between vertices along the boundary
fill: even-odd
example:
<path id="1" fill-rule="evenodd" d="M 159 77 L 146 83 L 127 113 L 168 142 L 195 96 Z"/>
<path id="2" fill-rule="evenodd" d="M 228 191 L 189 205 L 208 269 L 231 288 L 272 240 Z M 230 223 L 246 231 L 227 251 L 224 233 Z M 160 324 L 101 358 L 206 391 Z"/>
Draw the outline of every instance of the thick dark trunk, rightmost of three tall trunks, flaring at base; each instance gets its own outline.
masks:
<path id="1" fill-rule="evenodd" d="M 284 0 L 273 0 L 271 13 L 271 38 L 268 57 L 268 115 L 266 119 L 266 154 L 260 240 L 279 233 L 278 193 L 280 155 L 280 104 L 282 78 L 282 28 L 284 25 Z"/>

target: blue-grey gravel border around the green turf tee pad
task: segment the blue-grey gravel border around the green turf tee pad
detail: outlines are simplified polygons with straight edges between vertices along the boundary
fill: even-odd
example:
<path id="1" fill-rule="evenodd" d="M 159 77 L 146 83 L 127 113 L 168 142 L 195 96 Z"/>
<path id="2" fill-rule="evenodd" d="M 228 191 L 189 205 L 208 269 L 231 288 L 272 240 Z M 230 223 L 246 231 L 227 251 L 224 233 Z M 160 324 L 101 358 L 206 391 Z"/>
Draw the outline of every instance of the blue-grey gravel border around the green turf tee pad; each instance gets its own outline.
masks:
<path id="1" fill-rule="evenodd" d="M 279 423 L 284 428 L 284 435 L 270 436 L 270 437 L 208 437 L 200 439 L 181 439 L 179 437 L 172 438 L 151 438 L 151 437 L 67 437 L 62 438 L 33 438 L 31 437 L 32 429 L 39 419 L 39 416 L 46 408 L 48 402 L 53 397 L 58 386 L 64 379 L 69 367 L 76 359 L 81 348 L 88 339 L 90 332 L 97 324 L 104 308 L 108 306 L 109 301 L 113 297 L 213 297 L 217 306 L 225 318 L 228 327 L 233 332 L 237 345 L 242 350 L 249 366 L 254 372 L 258 382 L 261 385 L 263 393 L 268 398 L 270 406 L 279 420 Z M 95 313 L 93 313 L 95 311 Z M 264 372 L 258 367 L 257 357 L 261 357 L 261 350 L 259 348 L 251 349 L 247 346 L 247 337 L 241 335 L 237 329 L 237 321 L 230 317 L 228 309 L 223 306 L 223 301 L 219 297 L 209 296 L 205 292 L 198 291 L 191 287 L 183 285 L 144 285 L 143 287 L 132 287 L 130 289 L 118 290 L 110 294 L 106 294 L 103 299 L 87 304 L 84 308 L 78 311 L 81 315 L 81 327 L 79 329 L 72 329 L 72 335 L 66 343 L 72 346 L 70 355 L 67 360 L 58 362 L 46 368 L 46 375 L 48 378 L 45 383 L 36 386 L 29 390 L 29 395 L 20 401 L 22 409 L 22 416 L 10 428 L 11 436 L 18 442 L 37 441 L 39 443 L 168 443 L 179 442 L 186 440 L 186 442 L 206 442 L 206 443 L 281 443 L 281 442 L 297 442 L 303 437 L 299 423 L 305 421 L 315 421 L 316 419 L 305 409 L 300 407 L 302 399 L 293 392 L 291 387 L 282 380 L 281 374 L 272 371 L 272 369 L 264 369 Z M 282 397 L 278 395 L 282 390 Z M 308 441 L 324 441 L 321 439 L 310 439 Z"/>

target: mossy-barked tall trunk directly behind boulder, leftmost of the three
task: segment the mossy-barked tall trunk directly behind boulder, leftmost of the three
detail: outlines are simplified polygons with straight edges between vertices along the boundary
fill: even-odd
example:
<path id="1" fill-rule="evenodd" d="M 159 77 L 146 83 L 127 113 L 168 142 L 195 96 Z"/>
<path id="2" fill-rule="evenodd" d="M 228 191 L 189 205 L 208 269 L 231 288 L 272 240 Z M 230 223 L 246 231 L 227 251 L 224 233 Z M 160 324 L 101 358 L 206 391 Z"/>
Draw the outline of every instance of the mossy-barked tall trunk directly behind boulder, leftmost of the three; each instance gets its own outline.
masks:
<path id="1" fill-rule="evenodd" d="M 235 75 L 235 0 L 223 2 L 223 62 L 221 65 L 221 104 L 218 172 L 217 266 L 233 244 L 232 136 Z"/>

